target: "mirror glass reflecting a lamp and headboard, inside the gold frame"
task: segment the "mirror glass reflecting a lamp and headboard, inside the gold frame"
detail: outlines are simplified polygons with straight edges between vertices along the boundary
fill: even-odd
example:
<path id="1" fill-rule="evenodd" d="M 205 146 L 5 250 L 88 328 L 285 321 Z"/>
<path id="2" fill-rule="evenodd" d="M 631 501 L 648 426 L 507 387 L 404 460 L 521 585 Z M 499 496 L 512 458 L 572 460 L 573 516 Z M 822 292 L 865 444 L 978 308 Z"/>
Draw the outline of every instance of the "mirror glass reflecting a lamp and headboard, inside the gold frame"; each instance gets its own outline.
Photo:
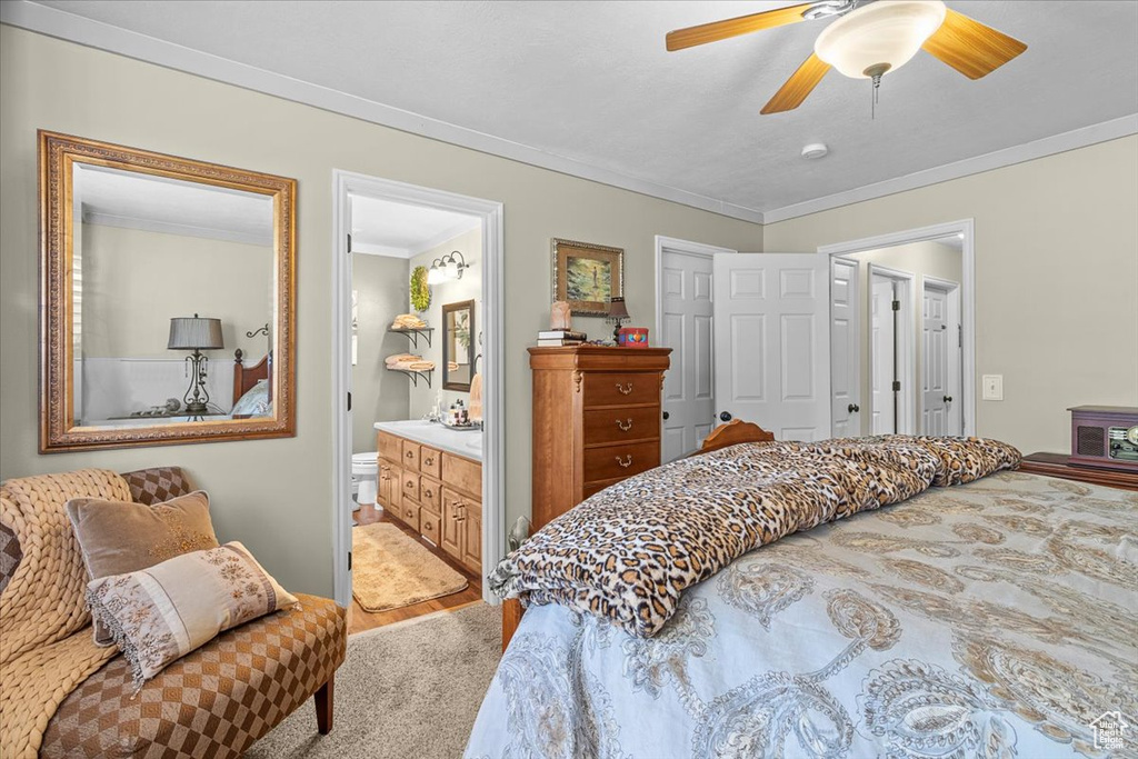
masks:
<path id="1" fill-rule="evenodd" d="M 74 426 L 273 416 L 273 198 L 73 167 Z"/>

